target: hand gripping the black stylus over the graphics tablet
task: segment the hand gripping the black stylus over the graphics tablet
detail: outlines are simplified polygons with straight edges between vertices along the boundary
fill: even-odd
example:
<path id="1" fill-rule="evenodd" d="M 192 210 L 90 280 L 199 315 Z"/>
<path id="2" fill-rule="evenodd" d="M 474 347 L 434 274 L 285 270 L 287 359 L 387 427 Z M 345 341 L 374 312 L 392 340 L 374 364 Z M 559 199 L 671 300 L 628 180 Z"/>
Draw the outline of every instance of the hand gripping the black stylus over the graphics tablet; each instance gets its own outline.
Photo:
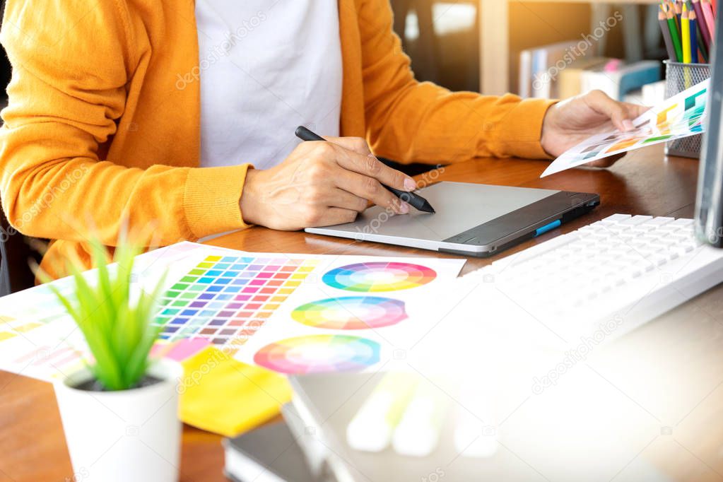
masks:
<path id="1" fill-rule="evenodd" d="M 397 214 L 409 212 L 382 184 L 416 189 L 414 179 L 377 160 L 364 139 L 301 142 L 283 163 L 249 169 L 241 212 L 247 223 L 283 231 L 350 223 L 367 209 L 367 200 Z"/>

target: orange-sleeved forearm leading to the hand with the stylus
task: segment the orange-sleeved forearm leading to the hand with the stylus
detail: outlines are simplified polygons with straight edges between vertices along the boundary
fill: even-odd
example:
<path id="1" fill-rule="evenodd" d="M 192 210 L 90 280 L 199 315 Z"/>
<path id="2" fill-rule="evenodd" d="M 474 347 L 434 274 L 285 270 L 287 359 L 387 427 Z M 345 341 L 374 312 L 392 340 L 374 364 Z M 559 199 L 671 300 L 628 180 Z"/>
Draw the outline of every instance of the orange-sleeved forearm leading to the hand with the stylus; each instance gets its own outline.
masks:
<path id="1" fill-rule="evenodd" d="M 121 224 L 155 226 L 171 244 L 243 228 L 239 200 L 247 165 L 228 168 L 127 168 L 73 156 L 72 129 L 54 126 L 56 139 L 39 142 L 48 124 L 0 131 L 0 191 L 8 219 L 29 236 L 84 241 L 89 229 L 113 246 Z"/>

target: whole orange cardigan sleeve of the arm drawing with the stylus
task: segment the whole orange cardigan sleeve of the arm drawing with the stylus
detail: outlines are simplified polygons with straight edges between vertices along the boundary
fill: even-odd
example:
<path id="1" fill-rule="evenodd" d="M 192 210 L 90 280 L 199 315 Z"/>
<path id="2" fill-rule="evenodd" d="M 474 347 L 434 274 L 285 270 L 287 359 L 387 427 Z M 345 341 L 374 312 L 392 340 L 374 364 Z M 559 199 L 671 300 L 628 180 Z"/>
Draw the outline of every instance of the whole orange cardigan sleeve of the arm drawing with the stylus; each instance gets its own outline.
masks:
<path id="1" fill-rule="evenodd" d="M 243 228 L 248 165 L 186 168 L 103 158 L 139 59 L 119 1 L 9 0 L 0 40 L 12 63 L 0 129 L 2 207 L 18 231 L 114 246 L 124 218 L 161 244 Z M 198 153 L 189 153 L 197 158 Z M 129 165 L 134 165 L 130 162 Z"/>

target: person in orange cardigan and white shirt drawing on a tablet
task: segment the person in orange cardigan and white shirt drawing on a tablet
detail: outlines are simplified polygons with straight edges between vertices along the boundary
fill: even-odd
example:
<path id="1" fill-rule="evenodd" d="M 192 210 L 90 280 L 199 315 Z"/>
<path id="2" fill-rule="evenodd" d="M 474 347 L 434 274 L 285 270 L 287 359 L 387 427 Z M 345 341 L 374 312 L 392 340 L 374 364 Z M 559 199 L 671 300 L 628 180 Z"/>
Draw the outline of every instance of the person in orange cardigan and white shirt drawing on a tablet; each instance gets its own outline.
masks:
<path id="1" fill-rule="evenodd" d="M 552 158 L 643 108 L 602 92 L 522 100 L 417 82 L 388 0 L 8 0 L 0 129 L 9 222 L 88 260 L 93 226 L 162 245 L 353 220 L 414 181 L 380 163 Z M 330 142 L 300 143 L 306 124 Z M 372 154 L 373 153 L 373 154 Z"/>

